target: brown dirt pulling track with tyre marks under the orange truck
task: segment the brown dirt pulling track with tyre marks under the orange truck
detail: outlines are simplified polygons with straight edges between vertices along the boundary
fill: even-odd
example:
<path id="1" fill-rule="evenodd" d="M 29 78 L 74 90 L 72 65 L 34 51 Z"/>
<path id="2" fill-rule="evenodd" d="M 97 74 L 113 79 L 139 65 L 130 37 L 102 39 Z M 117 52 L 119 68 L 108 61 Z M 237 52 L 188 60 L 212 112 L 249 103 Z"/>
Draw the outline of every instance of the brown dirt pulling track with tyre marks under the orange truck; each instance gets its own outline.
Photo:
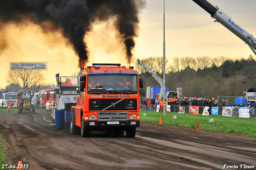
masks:
<path id="1" fill-rule="evenodd" d="M 90 138 L 56 131 L 49 112 L 0 114 L 0 133 L 12 162 L 29 170 L 190 170 L 256 166 L 256 139 L 141 123 L 135 138 L 92 132 Z M 254 169 L 256 169 L 254 167 Z"/>

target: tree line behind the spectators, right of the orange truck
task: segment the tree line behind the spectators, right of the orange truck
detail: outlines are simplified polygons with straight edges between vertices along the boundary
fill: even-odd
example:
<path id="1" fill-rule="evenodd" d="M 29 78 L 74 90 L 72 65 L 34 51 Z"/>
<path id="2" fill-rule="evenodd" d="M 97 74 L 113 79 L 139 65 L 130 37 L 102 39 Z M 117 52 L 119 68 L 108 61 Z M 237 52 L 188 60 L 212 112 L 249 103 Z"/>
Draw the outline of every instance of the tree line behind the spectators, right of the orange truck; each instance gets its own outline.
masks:
<path id="1" fill-rule="evenodd" d="M 158 76 L 163 77 L 163 57 L 143 58 Z M 245 96 L 244 92 L 256 86 L 256 60 L 231 59 L 219 56 L 174 57 L 166 59 L 166 86 L 169 91 L 182 88 L 182 96 L 212 98 L 217 96 Z M 160 84 L 140 64 L 136 64 L 146 86 Z"/>

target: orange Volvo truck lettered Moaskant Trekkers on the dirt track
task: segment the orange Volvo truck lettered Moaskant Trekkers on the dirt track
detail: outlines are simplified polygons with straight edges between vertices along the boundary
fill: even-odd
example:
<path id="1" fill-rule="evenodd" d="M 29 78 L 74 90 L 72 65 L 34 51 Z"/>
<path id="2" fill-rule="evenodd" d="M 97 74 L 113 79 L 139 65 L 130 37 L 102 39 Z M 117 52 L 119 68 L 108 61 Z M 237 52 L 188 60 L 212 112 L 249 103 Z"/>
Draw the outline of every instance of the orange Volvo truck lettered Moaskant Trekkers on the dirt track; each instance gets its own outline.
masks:
<path id="1" fill-rule="evenodd" d="M 80 70 L 80 96 L 71 108 L 70 134 L 88 137 L 91 130 L 114 130 L 134 137 L 140 126 L 142 78 L 132 66 L 92 65 Z"/>

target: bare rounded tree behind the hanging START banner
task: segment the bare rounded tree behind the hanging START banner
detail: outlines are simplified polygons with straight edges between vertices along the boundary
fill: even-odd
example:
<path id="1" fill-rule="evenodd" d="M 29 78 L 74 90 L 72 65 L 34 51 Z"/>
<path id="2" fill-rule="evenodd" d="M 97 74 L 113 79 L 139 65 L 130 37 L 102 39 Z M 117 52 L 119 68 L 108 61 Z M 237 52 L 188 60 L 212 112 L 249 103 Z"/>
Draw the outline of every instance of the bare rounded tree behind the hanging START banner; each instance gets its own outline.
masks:
<path id="1" fill-rule="evenodd" d="M 27 91 L 32 86 L 42 84 L 45 78 L 41 70 L 9 70 L 4 80 L 8 85 L 14 84 Z"/>

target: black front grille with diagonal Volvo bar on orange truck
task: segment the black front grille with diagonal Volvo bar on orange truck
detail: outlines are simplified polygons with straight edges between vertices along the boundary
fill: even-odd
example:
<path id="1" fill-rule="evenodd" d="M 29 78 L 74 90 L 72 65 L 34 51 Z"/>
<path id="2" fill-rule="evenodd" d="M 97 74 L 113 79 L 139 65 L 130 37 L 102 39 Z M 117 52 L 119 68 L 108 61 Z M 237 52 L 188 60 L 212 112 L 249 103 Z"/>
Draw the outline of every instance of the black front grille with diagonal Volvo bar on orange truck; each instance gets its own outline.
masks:
<path id="1" fill-rule="evenodd" d="M 123 99 L 122 101 L 120 100 L 122 99 L 90 99 L 89 110 L 137 110 L 136 99 Z"/>

